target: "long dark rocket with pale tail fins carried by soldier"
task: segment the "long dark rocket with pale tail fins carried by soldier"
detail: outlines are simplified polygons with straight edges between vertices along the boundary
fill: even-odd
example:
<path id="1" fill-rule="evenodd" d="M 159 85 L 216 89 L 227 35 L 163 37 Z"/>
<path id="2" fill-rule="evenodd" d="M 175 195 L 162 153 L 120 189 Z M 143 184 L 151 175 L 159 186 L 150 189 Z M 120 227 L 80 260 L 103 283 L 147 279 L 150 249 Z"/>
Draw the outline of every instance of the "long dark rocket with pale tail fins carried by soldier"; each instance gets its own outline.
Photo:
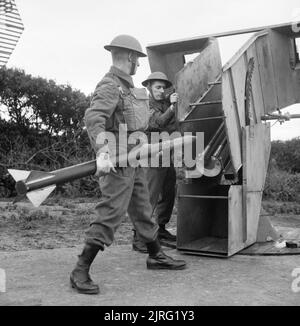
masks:
<path id="1" fill-rule="evenodd" d="M 151 155 L 161 155 L 165 150 L 182 148 L 182 146 L 192 144 L 195 140 L 196 137 L 194 136 L 183 136 L 160 143 L 143 144 L 128 154 L 120 155 L 117 161 L 124 163 L 133 159 L 142 160 Z M 18 198 L 27 196 L 32 204 L 38 207 L 57 185 L 94 175 L 96 170 L 96 160 L 93 160 L 51 172 L 13 169 L 9 169 L 8 172 L 16 181 Z"/>

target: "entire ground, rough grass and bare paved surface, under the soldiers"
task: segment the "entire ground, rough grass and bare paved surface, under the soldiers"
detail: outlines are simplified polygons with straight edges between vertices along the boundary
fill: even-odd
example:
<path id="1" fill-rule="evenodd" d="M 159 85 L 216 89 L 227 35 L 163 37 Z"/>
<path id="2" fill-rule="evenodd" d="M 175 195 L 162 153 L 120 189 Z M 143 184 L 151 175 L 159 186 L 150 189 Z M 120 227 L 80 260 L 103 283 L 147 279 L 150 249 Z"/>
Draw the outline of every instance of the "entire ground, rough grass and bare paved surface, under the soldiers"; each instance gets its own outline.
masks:
<path id="1" fill-rule="evenodd" d="M 7 273 L 7 292 L 0 293 L 0 305 L 300 305 L 300 292 L 291 289 L 300 256 L 220 259 L 182 256 L 165 248 L 173 257 L 184 258 L 188 268 L 149 271 L 146 255 L 131 249 L 132 226 L 126 216 L 113 246 L 93 264 L 101 294 L 76 294 L 68 276 L 84 230 L 95 217 L 95 205 L 96 201 L 56 199 L 35 209 L 27 202 L 0 202 L 0 268 Z M 300 215 L 270 218 L 279 230 L 300 229 Z M 168 229 L 176 232 L 176 209 Z"/>

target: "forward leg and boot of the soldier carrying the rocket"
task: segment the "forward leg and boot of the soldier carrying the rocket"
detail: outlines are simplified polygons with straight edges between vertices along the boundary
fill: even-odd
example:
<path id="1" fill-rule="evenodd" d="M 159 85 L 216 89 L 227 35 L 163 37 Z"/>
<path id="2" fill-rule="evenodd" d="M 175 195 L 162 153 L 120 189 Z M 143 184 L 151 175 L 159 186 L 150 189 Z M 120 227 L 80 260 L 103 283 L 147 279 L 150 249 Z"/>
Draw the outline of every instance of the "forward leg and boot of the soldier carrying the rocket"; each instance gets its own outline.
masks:
<path id="1" fill-rule="evenodd" d="M 145 171 L 137 168 L 128 213 L 139 236 L 146 243 L 149 253 L 147 268 L 183 269 L 186 265 L 185 261 L 174 260 L 161 250 L 157 240 L 158 225 L 152 216 L 149 197 Z"/>

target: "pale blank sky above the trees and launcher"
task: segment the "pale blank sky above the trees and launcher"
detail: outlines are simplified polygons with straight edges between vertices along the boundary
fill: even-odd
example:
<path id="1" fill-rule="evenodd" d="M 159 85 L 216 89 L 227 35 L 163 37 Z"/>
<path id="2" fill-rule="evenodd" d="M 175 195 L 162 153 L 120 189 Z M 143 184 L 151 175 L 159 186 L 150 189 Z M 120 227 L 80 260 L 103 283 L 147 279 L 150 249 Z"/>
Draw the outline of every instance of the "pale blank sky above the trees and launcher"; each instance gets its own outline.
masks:
<path id="1" fill-rule="evenodd" d="M 15 0 L 25 30 L 7 66 L 69 84 L 85 94 L 111 66 L 103 46 L 119 34 L 147 45 L 300 21 L 299 0 Z M 225 64 L 251 34 L 220 38 Z M 140 60 L 137 87 L 150 73 Z M 300 114 L 300 105 L 283 112 Z M 273 125 L 274 123 L 272 123 Z M 273 140 L 300 136 L 300 119 L 272 127 Z"/>

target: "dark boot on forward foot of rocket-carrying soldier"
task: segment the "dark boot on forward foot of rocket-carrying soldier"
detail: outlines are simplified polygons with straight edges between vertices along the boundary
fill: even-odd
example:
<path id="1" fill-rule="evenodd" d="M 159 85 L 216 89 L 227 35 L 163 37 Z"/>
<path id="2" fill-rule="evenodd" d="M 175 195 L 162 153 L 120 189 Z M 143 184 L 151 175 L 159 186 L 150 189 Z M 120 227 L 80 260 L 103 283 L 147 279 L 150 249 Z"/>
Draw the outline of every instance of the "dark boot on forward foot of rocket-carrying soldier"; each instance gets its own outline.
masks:
<path id="1" fill-rule="evenodd" d="M 147 243 L 149 256 L 147 258 L 148 269 L 184 269 L 186 262 L 184 260 L 175 260 L 167 256 L 160 247 L 158 240 Z"/>

